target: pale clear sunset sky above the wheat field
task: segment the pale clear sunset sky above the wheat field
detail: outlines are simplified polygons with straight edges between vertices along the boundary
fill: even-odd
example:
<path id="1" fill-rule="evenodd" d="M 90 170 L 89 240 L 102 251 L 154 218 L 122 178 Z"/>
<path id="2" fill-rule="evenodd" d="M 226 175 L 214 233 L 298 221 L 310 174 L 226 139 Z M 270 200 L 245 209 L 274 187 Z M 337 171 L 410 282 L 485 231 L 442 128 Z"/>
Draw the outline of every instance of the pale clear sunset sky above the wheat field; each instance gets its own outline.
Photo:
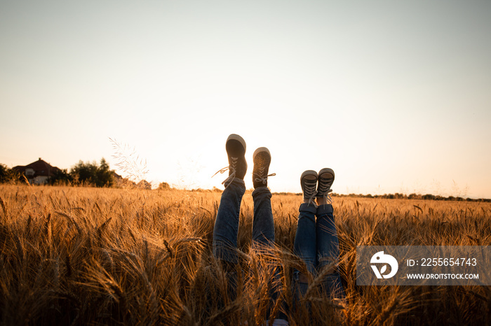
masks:
<path id="1" fill-rule="evenodd" d="M 222 188 L 239 134 L 248 188 L 264 146 L 273 192 L 491 198 L 490 35 L 487 0 L 0 0 L 0 163 Z"/>

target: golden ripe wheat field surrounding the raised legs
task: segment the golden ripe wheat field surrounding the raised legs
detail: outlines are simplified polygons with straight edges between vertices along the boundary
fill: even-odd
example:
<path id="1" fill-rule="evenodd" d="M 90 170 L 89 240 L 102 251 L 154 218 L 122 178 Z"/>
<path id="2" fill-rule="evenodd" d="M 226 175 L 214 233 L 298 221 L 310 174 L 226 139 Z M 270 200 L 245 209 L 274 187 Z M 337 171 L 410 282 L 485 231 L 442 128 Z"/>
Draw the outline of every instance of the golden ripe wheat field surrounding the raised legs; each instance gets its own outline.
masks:
<path id="1" fill-rule="evenodd" d="M 292 307 L 295 194 L 272 198 L 273 253 L 250 250 L 253 200 L 238 234 L 243 276 L 230 300 L 211 255 L 221 192 L 0 185 L 1 325 L 257 325 L 271 269 Z M 311 278 L 290 325 L 490 325 L 487 286 L 356 286 L 358 245 L 491 244 L 491 204 L 334 197 L 347 294 L 332 301 Z"/>

